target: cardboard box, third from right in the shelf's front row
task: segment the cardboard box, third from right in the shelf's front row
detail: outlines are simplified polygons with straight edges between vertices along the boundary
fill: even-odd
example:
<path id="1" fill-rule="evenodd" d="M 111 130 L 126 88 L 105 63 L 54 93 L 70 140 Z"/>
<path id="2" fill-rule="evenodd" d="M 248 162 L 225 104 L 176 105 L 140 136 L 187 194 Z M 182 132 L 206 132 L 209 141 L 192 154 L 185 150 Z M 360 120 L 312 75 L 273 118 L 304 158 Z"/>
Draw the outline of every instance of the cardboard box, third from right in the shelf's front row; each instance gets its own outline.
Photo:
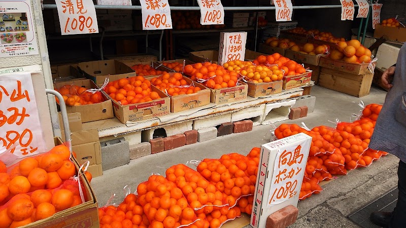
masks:
<path id="1" fill-rule="evenodd" d="M 243 82 L 240 83 L 240 86 L 234 86 L 231 88 L 210 89 L 210 102 L 223 104 L 247 99 L 248 85 Z"/>

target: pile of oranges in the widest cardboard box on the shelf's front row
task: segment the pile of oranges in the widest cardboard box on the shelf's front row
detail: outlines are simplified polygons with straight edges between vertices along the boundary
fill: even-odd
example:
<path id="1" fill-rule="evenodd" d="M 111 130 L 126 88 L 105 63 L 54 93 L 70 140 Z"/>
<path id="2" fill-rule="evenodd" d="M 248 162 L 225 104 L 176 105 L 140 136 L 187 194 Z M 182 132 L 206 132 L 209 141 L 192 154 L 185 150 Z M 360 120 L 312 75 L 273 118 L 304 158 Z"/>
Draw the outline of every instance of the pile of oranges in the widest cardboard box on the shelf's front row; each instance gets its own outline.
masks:
<path id="1" fill-rule="evenodd" d="M 161 98 L 151 89 L 151 82 L 142 76 L 119 79 L 107 84 L 104 91 L 121 105 L 149 102 Z"/>

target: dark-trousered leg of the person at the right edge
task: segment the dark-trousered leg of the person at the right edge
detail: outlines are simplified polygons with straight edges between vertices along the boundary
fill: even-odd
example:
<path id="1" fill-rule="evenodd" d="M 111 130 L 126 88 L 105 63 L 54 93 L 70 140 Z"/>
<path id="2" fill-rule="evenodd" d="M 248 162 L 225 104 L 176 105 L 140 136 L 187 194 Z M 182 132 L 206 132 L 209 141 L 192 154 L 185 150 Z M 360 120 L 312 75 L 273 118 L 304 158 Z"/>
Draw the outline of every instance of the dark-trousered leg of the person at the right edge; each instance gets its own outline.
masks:
<path id="1" fill-rule="evenodd" d="M 400 161 L 397 168 L 397 188 L 399 189 L 399 196 L 395 210 L 392 212 L 390 221 L 391 228 L 406 227 L 406 163 Z"/>

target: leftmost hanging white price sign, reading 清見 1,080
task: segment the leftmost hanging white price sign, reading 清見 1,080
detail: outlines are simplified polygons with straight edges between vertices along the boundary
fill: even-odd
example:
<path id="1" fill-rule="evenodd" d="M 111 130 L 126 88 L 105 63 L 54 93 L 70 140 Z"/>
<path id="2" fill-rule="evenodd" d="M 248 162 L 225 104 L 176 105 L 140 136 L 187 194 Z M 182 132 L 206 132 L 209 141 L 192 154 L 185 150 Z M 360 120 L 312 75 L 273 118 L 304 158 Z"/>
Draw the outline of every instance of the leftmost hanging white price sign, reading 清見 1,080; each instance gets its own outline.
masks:
<path id="1" fill-rule="evenodd" d="M 98 33 L 92 0 L 56 1 L 62 35 Z"/>

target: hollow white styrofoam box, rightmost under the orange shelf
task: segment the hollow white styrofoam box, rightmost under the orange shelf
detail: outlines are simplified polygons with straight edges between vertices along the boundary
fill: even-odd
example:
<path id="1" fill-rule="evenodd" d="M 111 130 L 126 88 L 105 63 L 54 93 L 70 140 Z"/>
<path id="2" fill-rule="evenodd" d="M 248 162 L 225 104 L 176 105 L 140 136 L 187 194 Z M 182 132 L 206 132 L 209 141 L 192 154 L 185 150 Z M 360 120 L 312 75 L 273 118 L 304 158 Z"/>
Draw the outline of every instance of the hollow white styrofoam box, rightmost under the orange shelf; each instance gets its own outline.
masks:
<path id="1" fill-rule="evenodd" d="M 272 124 L 289 119 L 290 108 L 296 103 L 296 99 L 284 102 L 268 103 L 262 116 L 262 125 Z"/>

